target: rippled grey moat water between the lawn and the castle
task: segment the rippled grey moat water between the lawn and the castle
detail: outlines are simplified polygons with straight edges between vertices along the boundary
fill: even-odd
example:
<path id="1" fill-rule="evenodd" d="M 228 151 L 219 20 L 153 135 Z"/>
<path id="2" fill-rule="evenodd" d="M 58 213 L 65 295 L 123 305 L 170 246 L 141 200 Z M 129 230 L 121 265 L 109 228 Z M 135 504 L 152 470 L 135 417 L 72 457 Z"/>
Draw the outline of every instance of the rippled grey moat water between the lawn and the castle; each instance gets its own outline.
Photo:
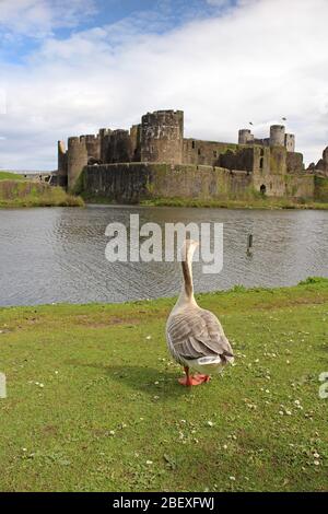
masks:
<path id="1" fill-rule="evenodd" d="M 224 265 L 219 274 L 194 267 L 200 291 L 296 284 L 328 277 L 328 211 L 97 207 L 0 209 L 0 305 L 124 302 L 173 296 L 177 262 L 115 262 L 105 258 L 108 223 L 221 222 Z M 251 233 L 253 255 L 246 254 Z"/>

